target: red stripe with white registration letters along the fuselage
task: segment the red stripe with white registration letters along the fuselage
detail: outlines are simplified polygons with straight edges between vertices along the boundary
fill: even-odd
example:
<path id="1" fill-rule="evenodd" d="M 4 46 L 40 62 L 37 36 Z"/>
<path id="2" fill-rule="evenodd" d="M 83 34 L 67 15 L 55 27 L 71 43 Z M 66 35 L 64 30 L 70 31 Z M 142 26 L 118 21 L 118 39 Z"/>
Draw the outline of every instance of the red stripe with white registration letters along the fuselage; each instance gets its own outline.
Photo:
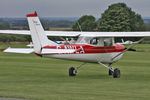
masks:
<path id="1" fill-rule="evenodd" d="M 45 46 L 45 49 L 80 49 L 78 53 L 113 53 L 123 52 L 125 47 L 121 44 L 115 44 L 114 46 L 98 47 L 87 44 L 71 44 L 71 45 L 57 45 L 57 46 Z"/>

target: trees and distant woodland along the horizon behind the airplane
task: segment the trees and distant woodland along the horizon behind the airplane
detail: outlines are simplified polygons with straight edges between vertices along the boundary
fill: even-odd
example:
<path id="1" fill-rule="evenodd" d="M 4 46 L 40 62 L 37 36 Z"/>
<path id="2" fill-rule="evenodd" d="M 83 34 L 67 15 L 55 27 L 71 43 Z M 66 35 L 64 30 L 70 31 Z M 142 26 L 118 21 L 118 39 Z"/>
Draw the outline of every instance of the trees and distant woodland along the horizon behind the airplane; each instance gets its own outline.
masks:
<path id="1" fill-rule="evenodd" d="M 132 11 L 125 3 L 112 4 L 101 14 L 97 20 L 92 15 L 84 15 L 76 22 L 73 21 L 41 21 L 44 28 L 49 27 L 72 27 L 73 31 L 107 31 L 107 32 L 128 32 L 128 31 L 145 31 L 150 29 L 150 24 L 145 24 L 141 15 Z M 10 24 L 23 26 L 28 29 L 27 21 L 3 21 L 0 20 L 0 29 L 11 29 Z M 3 25 L 4 24 L 4 25 Z M 25 26 L 25 27 L 24 27 Z M 52 38 L 51 38 L 52 39 Z M 60 40 L 60 38 L 55 38 Z M 30 36 L 4 35 L 0 34 L 0 41 L 31 41 Z"/>

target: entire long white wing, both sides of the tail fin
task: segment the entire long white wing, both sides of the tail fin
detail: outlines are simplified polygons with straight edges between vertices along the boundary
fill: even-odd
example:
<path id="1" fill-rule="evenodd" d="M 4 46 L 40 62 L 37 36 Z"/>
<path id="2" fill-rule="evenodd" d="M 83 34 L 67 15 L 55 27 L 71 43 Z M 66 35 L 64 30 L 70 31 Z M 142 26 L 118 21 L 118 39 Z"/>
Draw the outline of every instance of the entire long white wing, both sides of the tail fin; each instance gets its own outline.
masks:
<path id="1" fill-rule="evenodd" d="M 5 34 L 30 35 L 28 30 L 0 30 Z M 88 36 L 88 37 L 150 37 L 150 32 L 75 32 L 75 31 L 45 31 L 47 36 Z"/>

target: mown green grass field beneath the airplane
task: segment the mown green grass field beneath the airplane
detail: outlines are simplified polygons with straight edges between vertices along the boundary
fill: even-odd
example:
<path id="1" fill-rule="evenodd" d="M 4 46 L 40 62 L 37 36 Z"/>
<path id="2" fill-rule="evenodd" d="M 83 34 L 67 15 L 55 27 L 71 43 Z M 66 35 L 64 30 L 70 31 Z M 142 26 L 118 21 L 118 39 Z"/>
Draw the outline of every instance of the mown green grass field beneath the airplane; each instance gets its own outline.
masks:
<path id="1" fill-rule="evenodd" d="M 3 49 L 6 45 L 0 47 Z M 144 52 L 127 52 L 114 64 L 121 70 L 121 78 L 118 79 L 108 76 L 108 71 L 98 64 L 86 64 L 78 70 L 76 77 L 69 77 L 69 67 L 81 62 L 40 58 L 34 54 L 0 53 L 0 97 L 149 100 L 150 45 L 138 45 L 136 48 Z"/>

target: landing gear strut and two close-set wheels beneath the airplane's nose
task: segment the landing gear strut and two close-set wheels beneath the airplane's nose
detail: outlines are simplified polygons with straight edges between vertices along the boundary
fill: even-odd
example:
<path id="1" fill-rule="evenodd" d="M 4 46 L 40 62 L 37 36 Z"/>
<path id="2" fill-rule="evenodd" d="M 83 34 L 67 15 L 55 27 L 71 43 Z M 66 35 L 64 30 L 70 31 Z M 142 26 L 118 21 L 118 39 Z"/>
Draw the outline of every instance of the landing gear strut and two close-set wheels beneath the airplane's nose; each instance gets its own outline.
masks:
<path id="1" fill-rule="evenodd" d="M 114 78 L 120 78 L 120 70 L 119 68 L 113 68 L 112 67 L 112 63 L 109 64 L 108 66 L 106 66 L 105 64 L 98 62 L 99 64 L 101 64 L 102 66 L 106 67 L 107 69 L 109 69 L 108 75 L 113 75 Z"/>

